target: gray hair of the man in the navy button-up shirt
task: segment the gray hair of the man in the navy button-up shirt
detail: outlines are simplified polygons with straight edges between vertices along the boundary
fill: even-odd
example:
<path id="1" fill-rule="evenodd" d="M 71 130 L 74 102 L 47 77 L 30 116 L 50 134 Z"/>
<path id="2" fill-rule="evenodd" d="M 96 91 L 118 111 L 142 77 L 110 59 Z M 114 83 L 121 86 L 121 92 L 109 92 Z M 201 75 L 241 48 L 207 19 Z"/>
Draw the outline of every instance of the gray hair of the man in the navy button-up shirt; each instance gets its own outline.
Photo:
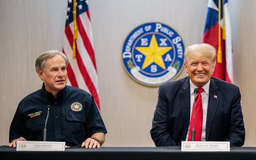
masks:
<path id="1" fill-rule="evenodd" d="M 57 50 L 50 50 L 50 51 L 46 51 L 43 54 L 41 54 L 37 60 L 36 60 L 36 71 L 38 72 L 39 69 L 44 69 L 45 67 L 45 61 L 52 58 L 55 55 L 60 55 L 61 57 L 63 57 L 63 59 L 66 62 L 66 66 L 69 64 L 69 59 L 67 58 L 67 56 L 62 53 L 59 52 Z"/>

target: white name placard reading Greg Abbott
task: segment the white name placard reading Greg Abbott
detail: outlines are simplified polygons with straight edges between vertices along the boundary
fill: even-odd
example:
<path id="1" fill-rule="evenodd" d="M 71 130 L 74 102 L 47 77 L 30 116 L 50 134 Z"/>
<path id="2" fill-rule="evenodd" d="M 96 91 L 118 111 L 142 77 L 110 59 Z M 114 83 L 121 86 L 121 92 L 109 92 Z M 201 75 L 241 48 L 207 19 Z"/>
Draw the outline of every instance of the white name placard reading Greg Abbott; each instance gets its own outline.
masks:
<path id="1" fill-rule="evenodd" d="M 64 151 L 65 142 L 17 141 L 16 151 Z"/>

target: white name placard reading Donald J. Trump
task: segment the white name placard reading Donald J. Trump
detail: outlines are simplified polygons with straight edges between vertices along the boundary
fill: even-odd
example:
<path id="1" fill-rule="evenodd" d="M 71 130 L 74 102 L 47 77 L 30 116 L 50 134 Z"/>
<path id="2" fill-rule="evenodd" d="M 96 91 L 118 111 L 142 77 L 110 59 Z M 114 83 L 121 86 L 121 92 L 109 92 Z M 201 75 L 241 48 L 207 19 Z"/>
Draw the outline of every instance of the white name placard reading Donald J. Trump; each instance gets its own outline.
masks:
<path id="1" fill-rule="evenodd" d="M 214 152 L 230 151 L 230 142 L 212 141 L 181 141 L 181 151 L 187 152 Z"/>

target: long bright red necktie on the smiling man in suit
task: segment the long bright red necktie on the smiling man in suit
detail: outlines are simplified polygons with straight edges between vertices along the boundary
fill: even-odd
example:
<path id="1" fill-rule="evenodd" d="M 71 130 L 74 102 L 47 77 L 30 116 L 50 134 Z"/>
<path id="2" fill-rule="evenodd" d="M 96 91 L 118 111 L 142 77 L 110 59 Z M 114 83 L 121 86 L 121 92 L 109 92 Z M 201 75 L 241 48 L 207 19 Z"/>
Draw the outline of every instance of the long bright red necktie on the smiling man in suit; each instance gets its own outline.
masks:
<path id="1" fill-rule="evenodd" d="M 203 88 L 198 88 L 198 94 L 196 96 L 196 111 L 195 111 L 195 141 L 201 141 L 202 126 L 203 126 L 203 105 L 202 96 Z M 194 116 L 194 105 L 191 112 L 191 119 L 189 125 L 188 141 L 191 141 L 192 129 L 193 129 L 193 116 Z"/>

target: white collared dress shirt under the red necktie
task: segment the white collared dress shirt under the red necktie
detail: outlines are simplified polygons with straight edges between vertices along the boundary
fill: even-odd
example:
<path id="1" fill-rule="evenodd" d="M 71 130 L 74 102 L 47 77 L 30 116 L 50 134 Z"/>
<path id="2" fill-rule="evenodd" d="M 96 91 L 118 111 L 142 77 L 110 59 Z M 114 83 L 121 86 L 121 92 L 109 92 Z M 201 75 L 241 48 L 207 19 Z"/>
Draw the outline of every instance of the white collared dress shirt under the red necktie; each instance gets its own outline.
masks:
<path id="1" fill-rule="evenodd" d="M 201 93 L 202 105 L 203 105 L 203 127 L 202 127 L 201 141 L 205 141 L 205 128 L 206 128 L 206 116 L 207 116 L 207 108 L 208 108 L 210 81 L 211 80 L 209 80 L 202 87 L 203 88 L 203 92 Z M 194 104 L 194 98 L 195 98 L 195 96 L 194 96 L 194 89 L 198 88 L 198 87 L 196 85 L 194 85 L 191 80 L 189 80 L 189 84 L 190 84 L 190 118 L 189 119 L 191 119 L 191 112 L 192 112 L 192 108 L 193 108 L 193 104 Z M 187 129 L 186 141 L 188 139 L 188 133 L 189 133 L 189 126 L 188 126 L 188 129 Z"/>

